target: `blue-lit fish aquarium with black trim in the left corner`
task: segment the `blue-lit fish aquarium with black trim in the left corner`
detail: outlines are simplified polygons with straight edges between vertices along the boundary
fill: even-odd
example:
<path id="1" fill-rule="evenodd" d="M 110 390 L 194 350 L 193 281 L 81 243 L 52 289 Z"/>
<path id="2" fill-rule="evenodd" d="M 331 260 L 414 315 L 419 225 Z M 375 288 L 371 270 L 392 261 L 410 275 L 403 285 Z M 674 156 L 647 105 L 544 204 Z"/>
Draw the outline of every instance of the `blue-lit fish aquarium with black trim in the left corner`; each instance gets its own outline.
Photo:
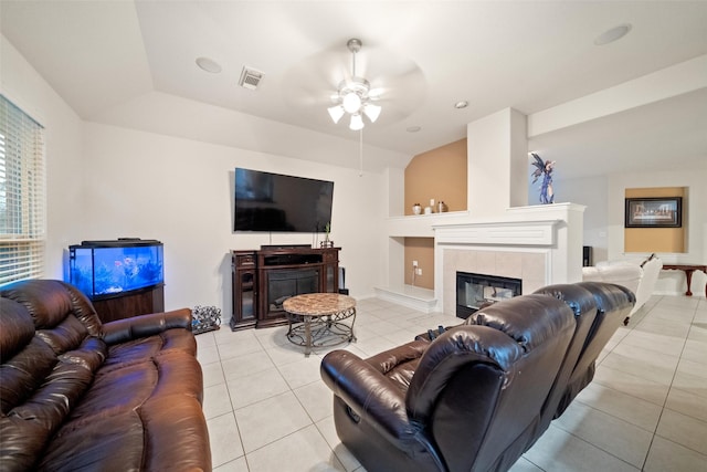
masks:
<path id="1" fill-rule="evenodd" d="M 70 245 L 68 279 L 91 300 L 160 285 L 165 282 L 162 243 L 126 238 Z"/>

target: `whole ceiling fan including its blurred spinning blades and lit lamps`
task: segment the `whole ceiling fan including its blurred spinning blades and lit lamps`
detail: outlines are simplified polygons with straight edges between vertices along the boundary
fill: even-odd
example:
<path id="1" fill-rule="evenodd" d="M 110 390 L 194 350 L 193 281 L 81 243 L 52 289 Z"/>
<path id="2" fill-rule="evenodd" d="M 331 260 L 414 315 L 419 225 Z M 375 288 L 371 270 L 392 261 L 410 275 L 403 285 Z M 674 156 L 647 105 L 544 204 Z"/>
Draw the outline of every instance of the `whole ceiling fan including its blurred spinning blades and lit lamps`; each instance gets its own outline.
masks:
<path id="1" fill-rule="evenodd" d="M 348 51 L 344 52 L 341 43 Z M 367 40 L 366 48 L 361 43 L 360 39 L 347 42 L 339 36 L 330 46 L 293 61 L 284 72 L 282 97 L 303 123 L 350 137 L 351 118 L 354 129 L 362 129 L 376 119 L 376 128 L 382 132 L 403 122 L 425 101 L 424 74 L 404 51 L 391 50 L 376 39 Z M 347 106 L 354 113 L 344 108 L 344 98 L 351 92 L 348 99 L 354 105 Z M 376 107 L 380 107 L 378 116 Z M 333 123 L 346 126 L 333 129 Z"/>

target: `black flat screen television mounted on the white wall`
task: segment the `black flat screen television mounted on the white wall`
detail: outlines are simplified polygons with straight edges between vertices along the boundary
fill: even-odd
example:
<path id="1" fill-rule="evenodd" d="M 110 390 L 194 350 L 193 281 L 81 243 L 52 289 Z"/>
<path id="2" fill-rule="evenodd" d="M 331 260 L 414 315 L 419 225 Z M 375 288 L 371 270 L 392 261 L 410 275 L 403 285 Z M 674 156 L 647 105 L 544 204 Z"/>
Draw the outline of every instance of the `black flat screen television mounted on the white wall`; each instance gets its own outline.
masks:
<path id="1" fill-rule="evenodd" d="M 324 232 L 333 200 L 334 182 L 236 167 L 233 230 Z"/>

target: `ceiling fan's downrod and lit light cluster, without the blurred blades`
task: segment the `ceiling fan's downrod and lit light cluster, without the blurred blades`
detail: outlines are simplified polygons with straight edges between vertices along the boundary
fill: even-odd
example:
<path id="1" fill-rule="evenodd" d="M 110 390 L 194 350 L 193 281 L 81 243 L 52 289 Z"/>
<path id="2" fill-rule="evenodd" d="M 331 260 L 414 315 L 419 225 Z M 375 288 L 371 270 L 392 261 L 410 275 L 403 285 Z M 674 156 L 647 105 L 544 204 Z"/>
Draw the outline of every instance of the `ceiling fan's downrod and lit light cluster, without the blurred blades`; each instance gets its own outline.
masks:
<path id="1" fill-rule="evenodd" d="M 370 82 L 356 75 L 356 54 L 361 50 L 361 40 L 352 38 L 348 40 L 346 46 L 351 51 L 351 76 L 339 83 L 337 94 L 331 98 L 335 105 L 327 108 L 329 116 L 335 124 L 347 113 L 350 116 L 349 129 L 359 130 L 366 125 L 363 116 L 371 123 L 376 123 L 382 107 L 373 102 L 378 98 L 371 93 Z"/>

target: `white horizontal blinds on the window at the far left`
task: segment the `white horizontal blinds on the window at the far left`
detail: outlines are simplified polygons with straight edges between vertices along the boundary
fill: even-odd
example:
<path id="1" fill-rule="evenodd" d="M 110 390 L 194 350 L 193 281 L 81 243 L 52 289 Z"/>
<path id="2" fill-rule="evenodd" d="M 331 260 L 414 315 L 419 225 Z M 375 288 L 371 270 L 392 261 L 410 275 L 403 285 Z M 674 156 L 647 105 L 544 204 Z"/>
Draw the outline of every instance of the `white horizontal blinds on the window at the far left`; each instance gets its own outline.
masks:
<path id="1" fill-rule="evenodd" d="M 44 272 L 44 129 L 0 95 L 0 285 Z"/>

